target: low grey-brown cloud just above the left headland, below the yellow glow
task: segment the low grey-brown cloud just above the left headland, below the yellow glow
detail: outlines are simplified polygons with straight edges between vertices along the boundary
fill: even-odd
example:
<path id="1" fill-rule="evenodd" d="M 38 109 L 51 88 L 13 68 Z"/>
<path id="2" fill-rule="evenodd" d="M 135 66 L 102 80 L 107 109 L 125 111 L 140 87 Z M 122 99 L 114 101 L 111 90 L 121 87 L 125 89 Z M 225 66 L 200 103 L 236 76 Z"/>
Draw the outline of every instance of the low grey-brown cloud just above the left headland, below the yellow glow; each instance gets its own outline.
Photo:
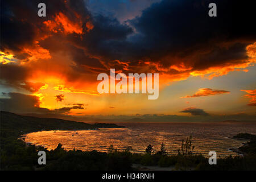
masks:
<path id="1" fill-rule="evenodd" d="M 21 93 L 9 93 L 9 98 L 0 98 L 0 109 L 14 113 L 38 113 L 38 114 L 65 114 L 71 109 L 84 109 L 82 106 L 62 107 L 60 109 L 49 110 L 39 107 L 40 100 L 37 96 Z"/>

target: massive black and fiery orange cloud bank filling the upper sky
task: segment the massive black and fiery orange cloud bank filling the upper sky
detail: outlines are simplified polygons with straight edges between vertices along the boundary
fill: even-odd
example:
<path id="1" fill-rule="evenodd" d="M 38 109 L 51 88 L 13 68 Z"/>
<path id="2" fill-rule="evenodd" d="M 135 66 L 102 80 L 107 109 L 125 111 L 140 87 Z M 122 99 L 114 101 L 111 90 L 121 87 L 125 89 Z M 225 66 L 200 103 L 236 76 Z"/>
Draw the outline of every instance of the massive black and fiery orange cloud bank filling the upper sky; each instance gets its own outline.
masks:
<path id="1" fill-rule="evenodd" d="M 102 9 L 101 1 L 93 5 L 84 0 L 45 0 L 47 16 L 38 17 L 40 2 L 1 1 L 0 84 L 15 90 L 7 92 L 48 98 L 68 93 L 65 101 L 72 94 L 84 94 L 97 96 L 90 100 L 94 102 L 104 97 L 97 92 L 97 75 L 110 68 L 126 75 L 159 73 L 162 86 L 189 76 L 212 79 L 232 71 L 250 72 L 248 67 L 256 60 L 251 21 L 255 8 L 246 0 L 214 1 L 214 18 L 208 16 L 209 0 L 104 1 L 109 8 Z M 130 9 L 125 12 L 125 7 Z M 110 13 L 101 11 L 105 8 Z M 113 14 L 114 10 L 118 11 Z M 119 14 L 123 16 L 117 18 Z M 229 92 L 199 90 L 185 97 L 222 93 Z M 26 98 L 34 105 L 40 102 Z"/>

